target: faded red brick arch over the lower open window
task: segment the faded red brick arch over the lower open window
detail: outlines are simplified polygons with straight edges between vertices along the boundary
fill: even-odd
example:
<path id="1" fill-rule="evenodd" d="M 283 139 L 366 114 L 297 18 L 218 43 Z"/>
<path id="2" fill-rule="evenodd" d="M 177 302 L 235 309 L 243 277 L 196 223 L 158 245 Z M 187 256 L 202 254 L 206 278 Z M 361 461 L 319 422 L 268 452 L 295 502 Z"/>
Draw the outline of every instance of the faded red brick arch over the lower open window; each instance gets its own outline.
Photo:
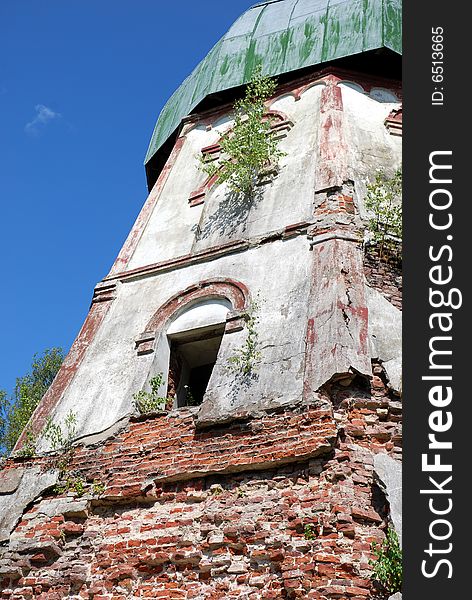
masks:
<path id="1" fill-rule="evenodd" d="M 244 312 L 249 306 L 249 290 L 241 282 L 233 279 L 210 279 L 194 284 L 174 294 L 153 314 L 145 330 L 136 339 L 138 355 L 154 352 L 156 339 L 164 331 L 173 317 L 181 314 L 199 300 L 222 298 L 228 300 L 232 310 L 226 318 L 225 333 L 240 331 L 244 327 Z"/>

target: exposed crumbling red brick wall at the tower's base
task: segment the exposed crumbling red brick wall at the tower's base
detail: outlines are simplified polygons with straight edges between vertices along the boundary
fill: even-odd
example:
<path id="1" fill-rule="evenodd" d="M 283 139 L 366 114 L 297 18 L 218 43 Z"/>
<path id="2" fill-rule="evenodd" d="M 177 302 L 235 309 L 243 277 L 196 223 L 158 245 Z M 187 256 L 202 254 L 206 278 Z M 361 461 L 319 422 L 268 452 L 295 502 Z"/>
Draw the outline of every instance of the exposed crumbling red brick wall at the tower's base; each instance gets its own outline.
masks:
<path id="1" fill-rule="evenodd" d="M 0 560 L 1 598 L 378 597 L 373 453 L 401 455 L 401 405 L 382 377 L 375 366 L 371 384 L 332 385 L 318 408 L 203 431 L 181 410 L 77 448 L 71 472 L 104 493 L 80 507 L 50 491 L 27 508 Z"/>

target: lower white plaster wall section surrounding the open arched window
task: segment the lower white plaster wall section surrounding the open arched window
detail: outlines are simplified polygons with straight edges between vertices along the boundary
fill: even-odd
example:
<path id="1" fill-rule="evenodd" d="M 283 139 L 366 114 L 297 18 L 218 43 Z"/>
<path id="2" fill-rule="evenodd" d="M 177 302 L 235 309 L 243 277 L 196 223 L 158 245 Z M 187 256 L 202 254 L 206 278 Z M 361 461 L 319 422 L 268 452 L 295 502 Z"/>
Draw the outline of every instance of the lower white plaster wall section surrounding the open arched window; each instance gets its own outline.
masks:
<path id="1" fill-rule="evenodd" d="M 144 387 L 153 371 L 167 375 L 168 368 L 164 354 L 138 356 L 136 338 L 155 311 L 179 290 L 218 277 L 241 281 L 253 295 L 260 290 L 263 300 L 258 323 L 261 364 L 244 399 L 235 397 L 235 375 L 226 366 L 234 350 L 244 343 L 246 332 L 224 336 L 210 382 L 221 399 L 221 410 L 233 410 L 237 402 L 260 406 L 300 399 L 309 269 L 309 243 L 305 237 L 297 237 L 120 284 L 84 361 L 52 415 L 54 421 L 62 422 L 72 410 L 77 415 L 77 433 L 83 436 L 104 431 L 132 412 L 133 393 Z"/>

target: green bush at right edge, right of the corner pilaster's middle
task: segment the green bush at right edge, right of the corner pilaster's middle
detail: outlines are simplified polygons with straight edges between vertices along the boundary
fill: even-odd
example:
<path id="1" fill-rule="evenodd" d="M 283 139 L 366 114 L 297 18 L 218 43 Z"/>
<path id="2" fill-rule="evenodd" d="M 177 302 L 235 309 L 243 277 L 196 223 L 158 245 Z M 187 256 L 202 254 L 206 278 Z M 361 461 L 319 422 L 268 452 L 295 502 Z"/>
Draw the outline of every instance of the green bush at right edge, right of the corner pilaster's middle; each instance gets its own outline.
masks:
<path id="1" fill-rule="evenodd" d="M 378 248 L 379 261 L 389 256 L 399 258 L 403 236 L 401 200 L 402 169 L 393 177 L 377 171 L 374 181 L 367 185 L 365 206 L 371 214 L 368 230 Z"/>

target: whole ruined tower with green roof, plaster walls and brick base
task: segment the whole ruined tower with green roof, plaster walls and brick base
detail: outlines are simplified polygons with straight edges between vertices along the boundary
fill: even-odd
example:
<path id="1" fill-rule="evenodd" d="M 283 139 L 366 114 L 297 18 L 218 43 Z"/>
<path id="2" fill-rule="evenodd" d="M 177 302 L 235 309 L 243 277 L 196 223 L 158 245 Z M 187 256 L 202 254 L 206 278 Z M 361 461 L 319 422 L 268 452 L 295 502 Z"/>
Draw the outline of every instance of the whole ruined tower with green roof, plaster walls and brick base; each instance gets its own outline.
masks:
<path id="1" fill-rule="evenodd" d="M 74 445 L 24 435 L 0 473 L 2 598 L 377 597 L 401 274 L 366 255 L 364 199 L 401 164 L 400 43 L 398 0 L 261 2 L 170 98 L 149 197 L 30 422 L 72 411 Z M 198 157 L 260 63 L 285 154 L 229 199 Z M 229 368 L 249 328 L 250 369 Z M 166 405 L 139 414 L 156 376 Z"/>

